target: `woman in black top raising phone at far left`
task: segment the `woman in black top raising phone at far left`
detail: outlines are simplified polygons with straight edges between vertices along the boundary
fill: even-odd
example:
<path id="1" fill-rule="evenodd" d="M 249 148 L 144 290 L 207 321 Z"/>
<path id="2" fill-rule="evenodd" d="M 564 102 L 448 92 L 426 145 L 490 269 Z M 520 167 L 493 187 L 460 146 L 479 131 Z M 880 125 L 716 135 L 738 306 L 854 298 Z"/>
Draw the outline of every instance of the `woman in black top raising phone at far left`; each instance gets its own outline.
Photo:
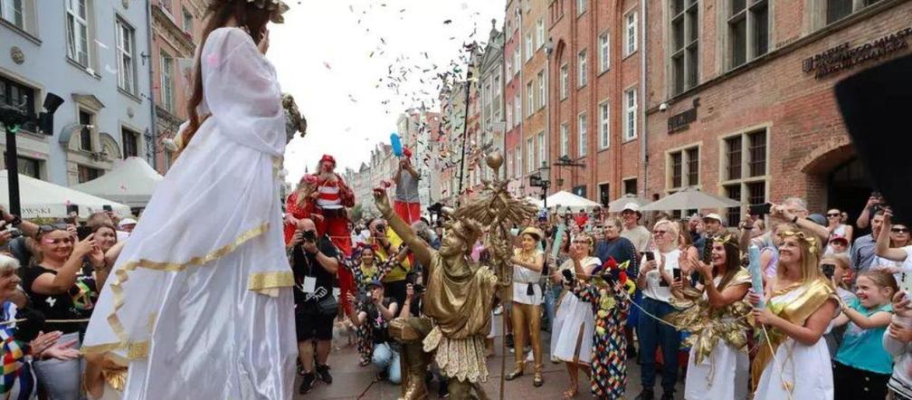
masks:
<path id="1" fill-rule="evenodd" d="M 54 224 L 40 226 L 35 240 L 35 258 L 22 274 L 22 287 L 35 309 L 48 320 L 89 318 L 98 300 L 98 282 L 103 283 L 109 270 L 94 235 L 77 241 L 67 224 Z M 86 325 L 48 322 L 43 331 L 63 332 L 59 342 L 76 342 L 78 349 Z M 35 362 L 38 381 L 53 399 L 79 398 L 81 368 L 78 358 Z"/>

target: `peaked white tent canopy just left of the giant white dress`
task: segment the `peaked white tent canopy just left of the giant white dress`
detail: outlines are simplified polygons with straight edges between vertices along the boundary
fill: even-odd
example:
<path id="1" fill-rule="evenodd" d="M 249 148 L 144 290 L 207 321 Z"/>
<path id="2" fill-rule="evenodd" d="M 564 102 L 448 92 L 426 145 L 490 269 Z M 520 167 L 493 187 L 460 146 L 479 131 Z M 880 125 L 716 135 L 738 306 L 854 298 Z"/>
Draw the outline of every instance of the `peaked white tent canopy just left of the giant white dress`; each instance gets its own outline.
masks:
<path id="1" fill-rule="evenodd" d="M 73 188 L 131 207 L 144 207 L 162 179 L 161 174 L 155 172 L 145 160 L 129 157 L 115 165 L 107 174 L 74 185 Z"/>

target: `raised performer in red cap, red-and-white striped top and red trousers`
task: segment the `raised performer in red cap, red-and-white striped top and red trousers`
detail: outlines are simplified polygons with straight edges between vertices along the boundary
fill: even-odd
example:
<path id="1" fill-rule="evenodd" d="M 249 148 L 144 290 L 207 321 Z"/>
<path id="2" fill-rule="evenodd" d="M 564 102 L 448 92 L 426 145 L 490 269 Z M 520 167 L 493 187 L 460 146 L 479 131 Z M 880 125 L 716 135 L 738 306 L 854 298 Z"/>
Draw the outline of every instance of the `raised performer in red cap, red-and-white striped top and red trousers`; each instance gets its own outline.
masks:
<path id="1" fill-rule="evenodd" d="M 329 240 L 345 255 L 351 256 L 351 231 L 348 229 L 346 207 L 355 205 L 355 193 L 348 187 L 339 174 L 336 174 L 336 159 L 325 154 L 320 159 L 316 173 L 316 209 L 323 216 L 325 233 Z M 347 312 L 351 311 L 348 293 L 354 293 L 354 277 L 345 268 L 338 270 L 340 303 Z"/>

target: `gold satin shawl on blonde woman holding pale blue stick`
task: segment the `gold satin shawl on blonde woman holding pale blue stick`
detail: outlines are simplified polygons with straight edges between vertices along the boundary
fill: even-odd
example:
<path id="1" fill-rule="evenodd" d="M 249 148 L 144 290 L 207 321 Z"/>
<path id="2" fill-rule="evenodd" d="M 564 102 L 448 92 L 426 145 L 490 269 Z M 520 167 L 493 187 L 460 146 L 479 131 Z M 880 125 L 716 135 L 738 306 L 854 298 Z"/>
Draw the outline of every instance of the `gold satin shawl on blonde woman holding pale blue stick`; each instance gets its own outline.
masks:
<path id="1" fill-rule="evenodd" d="M 790 300 L 774 301 L 777 297 L 785 295 L 793 290 L 803 290 Z M 772 294 L 772 300 L 766 302 L 766 308 L 770 309 L 773 314 L 779 316 L 785 321 L 792 322 L 796 325 L 804 325 L 814 311 L 817 311 L 827 300 L 834 299 L 835 291 L 829 282 L 825 279 L 814 279 L 797 287 L 789 287 L 778 290 Z M 756 388 L 760 383 L 760 377 L 766 364 L 772 360 L 772 355 L 779 349 L 779 345 L 788 336 L 782 331 L 767 327 L 766 334 L 760 335 L 760 343 L 757 349 L 757 355 L 754 356 L 751 364 L 751 388 Z M 769 342 L 767 342 L 769 340 Z M 782 378 L 785 382 L 785 379 Z M 788 384 L 785 382 L 785 384 Z M 791 390 L 791 389 L 789 389 Z"/>

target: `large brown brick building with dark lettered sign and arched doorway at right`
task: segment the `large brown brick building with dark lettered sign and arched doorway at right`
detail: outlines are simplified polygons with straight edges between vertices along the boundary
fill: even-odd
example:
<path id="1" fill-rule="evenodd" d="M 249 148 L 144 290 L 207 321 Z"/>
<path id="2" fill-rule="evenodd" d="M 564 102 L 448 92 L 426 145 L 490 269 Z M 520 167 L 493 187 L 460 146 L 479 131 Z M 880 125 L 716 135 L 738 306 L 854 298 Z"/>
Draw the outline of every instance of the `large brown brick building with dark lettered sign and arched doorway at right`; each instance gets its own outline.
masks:
<path id="1" fill-rule="evenodd" d="M 798 195 L 856 214 L 868 192 L 834 84 L 908 54 L 912 2 L 648 2 L 646 176 L 743 206 Z M 851 216 L 855 218 L 855 216 Z"/>

